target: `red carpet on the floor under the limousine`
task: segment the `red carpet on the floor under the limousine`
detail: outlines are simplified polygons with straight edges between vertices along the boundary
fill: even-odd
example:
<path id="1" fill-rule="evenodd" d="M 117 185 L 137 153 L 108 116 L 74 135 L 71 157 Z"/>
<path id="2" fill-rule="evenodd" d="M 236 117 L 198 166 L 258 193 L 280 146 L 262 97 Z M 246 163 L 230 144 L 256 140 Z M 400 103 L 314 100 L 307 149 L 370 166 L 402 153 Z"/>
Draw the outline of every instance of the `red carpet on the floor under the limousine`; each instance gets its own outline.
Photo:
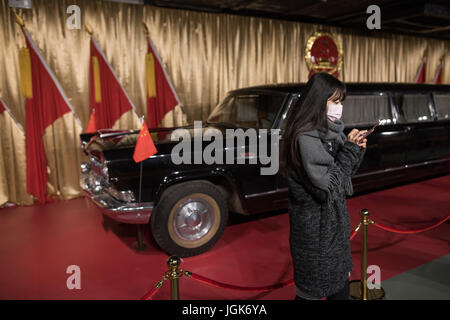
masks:
<path id="1" fill-rule="evenodd" d="M 418 229 L 450 213 L 450 175 L 348 200 L 352 226 L 359 210 L 387 226 Z M 233 217 L 232 217 L 233 220 Z M 292 278 L 287 214 L 230 225 L 217 245 L 181 266 L 233 285 L 264 286 Z M 0 299 L 139 299 L 166 271 L 167 256 L 149 240 L 136 253 L 135 227 L 106 220 L 87 199 L 0 210 Z M 360 277 L 360 234 L 352 241 Z M 369 227 L 369 265 L 382 280 L 450 253 L 450 223 L 421 234 Z M 81 268 L 81 290 L 69 290 L 69 265 Z M 154 299 L 169 299 L 169 283 Z M 269 293 L 221 290 L 183 278 L 181 299 L 292 299 L 293 286 Z"/>

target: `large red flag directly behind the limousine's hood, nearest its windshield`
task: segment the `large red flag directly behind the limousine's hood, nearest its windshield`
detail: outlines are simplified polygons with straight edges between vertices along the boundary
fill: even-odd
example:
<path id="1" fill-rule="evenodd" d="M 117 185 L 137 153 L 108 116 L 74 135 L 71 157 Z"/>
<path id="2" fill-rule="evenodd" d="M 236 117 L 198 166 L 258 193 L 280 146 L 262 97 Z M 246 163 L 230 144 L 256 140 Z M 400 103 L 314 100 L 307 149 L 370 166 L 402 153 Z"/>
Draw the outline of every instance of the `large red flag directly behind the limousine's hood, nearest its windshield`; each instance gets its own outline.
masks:
<path id="1" fill-rule="evenodd" d="M 150 37 L 146 56 L 146 78 L 148 125 L 150 128 L 157 128 L 164 116 L 180 104 L 180 99 Z"/>

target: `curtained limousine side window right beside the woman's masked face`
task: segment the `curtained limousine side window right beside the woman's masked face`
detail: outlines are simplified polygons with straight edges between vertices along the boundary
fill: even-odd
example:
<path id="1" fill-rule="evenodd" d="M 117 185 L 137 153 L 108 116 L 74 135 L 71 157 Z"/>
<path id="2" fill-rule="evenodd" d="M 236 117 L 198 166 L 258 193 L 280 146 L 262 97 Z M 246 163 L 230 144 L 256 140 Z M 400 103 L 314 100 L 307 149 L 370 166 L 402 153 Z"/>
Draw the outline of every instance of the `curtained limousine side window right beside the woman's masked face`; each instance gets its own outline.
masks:
<path id="1" fill-rule="evenodd" d="M 381 94 L 349 94 L 343 101 L 342 121 L 347 126 L 371 125 L 378 120 L 393 122 L 389 97 Z"/>

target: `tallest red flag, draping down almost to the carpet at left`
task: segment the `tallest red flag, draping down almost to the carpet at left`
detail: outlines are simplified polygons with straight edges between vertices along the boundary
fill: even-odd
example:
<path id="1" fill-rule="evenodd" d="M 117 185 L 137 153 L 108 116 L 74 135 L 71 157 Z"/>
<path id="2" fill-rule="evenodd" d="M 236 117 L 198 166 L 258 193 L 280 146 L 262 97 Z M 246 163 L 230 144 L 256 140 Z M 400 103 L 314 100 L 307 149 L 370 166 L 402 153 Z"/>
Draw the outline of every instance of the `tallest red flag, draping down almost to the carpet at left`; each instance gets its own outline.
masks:
<path id="1" fill-rule="evenodd" d="M 26 100 L 27 192 L 46 201 L 47 163 L 42 135 L 53 122 L 72 110 L 61 86 L 39 48 L 23 30 L 31 63 L 32 97 Z"/>

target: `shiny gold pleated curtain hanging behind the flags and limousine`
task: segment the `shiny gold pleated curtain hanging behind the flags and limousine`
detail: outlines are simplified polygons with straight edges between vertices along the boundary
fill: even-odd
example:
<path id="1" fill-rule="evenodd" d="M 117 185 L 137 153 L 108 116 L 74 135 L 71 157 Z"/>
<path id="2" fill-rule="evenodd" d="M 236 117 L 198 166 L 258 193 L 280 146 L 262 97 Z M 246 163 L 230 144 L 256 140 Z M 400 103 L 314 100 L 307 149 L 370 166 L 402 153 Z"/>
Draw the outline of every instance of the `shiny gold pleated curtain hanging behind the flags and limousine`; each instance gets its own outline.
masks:
<path id="1" fill-rule="evenodd" d="M 87 22 L 92 27 L 138 115 L 146 114 L 147 39 L 142 22 L 149 28 L 189 121 L 206 119 L 229 90 L 307 81 L 304 48 L 306 39 L 315 31 L 336 34 L 342 42 L 340 78 L 346 82 L 412 82 L 427 49 L 427 79 L 432 80 L 446 52 L 443 82 L 450 83 L 450 41 L 381 32 L 363 36 L 330 26 L 100 0 L 33 0 L 33 8 L 23 10 L 26 28 L 60 81 L 83 129 L 90 111 L 89 34 L 66 27 L 66 9 L 73 4 L 81 9 L 82 24 Z M 19 83 L 19 49 L 25 45 L 24 38 L 7 1 L 0 2 L 0 18 L 0 98 L 25 127 L 25 99 Z M 73 132 L 64 134 L 77 139 L 76 130 L 73 126 Z M 2 129 L 1 134 L 9 133 Z M 51 163 L 51 141 L 45 141 Z M 2 156 L 11 157 L 4 152 Z M 80 155 L 76 161 L 79 159 Z M 76 161 L 72 160 L 67 162 L 70 165 L 53 168 L 51 175 L 58 171 L 64 177 L 70 170 L 77 172 L 78 168 L 73 167 Z M 64 158 L 59 161 L 64 162 Z M 22 165 L 23 159 L 9 170 L 25 170 Z M 5 180 L 4 175 L 0 180 Z M 56 183 L 53 176 L 50 180 Z M 67 189 L 67 198 L 80 194 L 78 186 L 72 185 L 77 184 L 73 178 L 59 184 L 61 190 Z"/>

